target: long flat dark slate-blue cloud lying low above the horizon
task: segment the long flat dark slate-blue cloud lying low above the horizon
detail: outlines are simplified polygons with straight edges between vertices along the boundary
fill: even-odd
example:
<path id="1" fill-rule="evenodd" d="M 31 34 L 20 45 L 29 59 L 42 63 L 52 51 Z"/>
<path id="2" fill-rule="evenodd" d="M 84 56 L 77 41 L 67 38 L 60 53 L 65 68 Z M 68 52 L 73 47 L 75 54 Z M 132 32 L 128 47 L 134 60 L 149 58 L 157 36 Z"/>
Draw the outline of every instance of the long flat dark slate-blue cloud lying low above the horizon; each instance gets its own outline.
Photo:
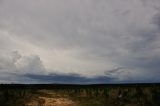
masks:
<path id="1" fill-rule="evenodd" d="M 75 84 L 92 84 L 92 83 L 112 83 L 114 82 L 114 78 L 110 78 L 107 76 L 100 76 L 94 78 L 87 78 L 80 75 L 33 75 L 33 74 L 25 74 L 24 77 L 38 80 L 41 83 L 75 83 Z"/>

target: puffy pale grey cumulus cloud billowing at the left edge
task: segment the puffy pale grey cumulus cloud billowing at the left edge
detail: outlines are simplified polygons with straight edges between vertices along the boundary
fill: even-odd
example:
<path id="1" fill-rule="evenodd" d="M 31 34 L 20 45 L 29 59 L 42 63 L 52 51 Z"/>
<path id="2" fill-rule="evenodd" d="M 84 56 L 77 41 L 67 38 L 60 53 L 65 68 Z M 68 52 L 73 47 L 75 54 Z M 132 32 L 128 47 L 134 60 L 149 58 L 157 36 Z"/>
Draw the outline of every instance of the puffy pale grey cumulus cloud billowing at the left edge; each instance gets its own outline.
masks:
<path id="1" fill-rule="evenodd" d="M 17 81 L 20 81 L 17 76 L 26 73 L 45 73 L 43 63 L 38 56 L 21 56 L 17 51 L 1 55 L 0 80 L 12 82 L 11 79 L 16 78 Z"/>

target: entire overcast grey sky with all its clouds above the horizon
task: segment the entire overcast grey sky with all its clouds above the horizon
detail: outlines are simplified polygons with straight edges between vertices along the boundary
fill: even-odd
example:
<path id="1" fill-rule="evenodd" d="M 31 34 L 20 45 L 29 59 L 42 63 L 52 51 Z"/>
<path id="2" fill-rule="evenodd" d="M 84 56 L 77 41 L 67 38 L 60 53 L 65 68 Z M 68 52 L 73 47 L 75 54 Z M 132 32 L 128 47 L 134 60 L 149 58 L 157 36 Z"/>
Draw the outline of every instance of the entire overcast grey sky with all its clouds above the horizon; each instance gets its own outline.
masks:
<path id="1" fill-rule="evenodd" d="M 0 83 L 159 76 L 159 0 L 0 0 Z"/>

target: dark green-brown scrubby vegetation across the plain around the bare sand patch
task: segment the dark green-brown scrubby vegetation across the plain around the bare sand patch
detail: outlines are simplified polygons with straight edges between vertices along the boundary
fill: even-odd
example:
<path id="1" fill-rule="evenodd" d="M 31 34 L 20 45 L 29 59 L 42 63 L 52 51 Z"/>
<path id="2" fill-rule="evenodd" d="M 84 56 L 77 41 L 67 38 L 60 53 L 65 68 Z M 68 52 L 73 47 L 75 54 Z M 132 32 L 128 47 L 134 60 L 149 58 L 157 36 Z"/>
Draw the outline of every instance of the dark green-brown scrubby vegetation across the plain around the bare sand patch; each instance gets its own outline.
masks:
<path id="1" fill-rule="evenodd" d="M 160 106 L 160 84 L 0 85 L 0 106 L 25 106 L 44 95 L 40 90 L 67 97 L 78 106 Z"/>

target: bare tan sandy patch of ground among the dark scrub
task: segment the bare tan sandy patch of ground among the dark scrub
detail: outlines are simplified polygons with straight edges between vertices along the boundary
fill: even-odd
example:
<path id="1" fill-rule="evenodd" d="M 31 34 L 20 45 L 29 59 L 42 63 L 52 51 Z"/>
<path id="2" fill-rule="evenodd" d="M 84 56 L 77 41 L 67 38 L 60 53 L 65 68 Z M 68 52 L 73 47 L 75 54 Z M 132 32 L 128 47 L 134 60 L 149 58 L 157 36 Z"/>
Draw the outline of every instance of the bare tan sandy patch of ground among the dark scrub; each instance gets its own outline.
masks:
<path id="1" fill-rule="evenodd" d="M 46 96 L 40 96 L 36 98 L 32 102 L 28 103 L 27 106 L 78 106 L 75 102 L 67 97 L 55 96 L 55 93 L 50 91 L 41 92 L 43 92 L 43 94 L 45 93 Z"/>

